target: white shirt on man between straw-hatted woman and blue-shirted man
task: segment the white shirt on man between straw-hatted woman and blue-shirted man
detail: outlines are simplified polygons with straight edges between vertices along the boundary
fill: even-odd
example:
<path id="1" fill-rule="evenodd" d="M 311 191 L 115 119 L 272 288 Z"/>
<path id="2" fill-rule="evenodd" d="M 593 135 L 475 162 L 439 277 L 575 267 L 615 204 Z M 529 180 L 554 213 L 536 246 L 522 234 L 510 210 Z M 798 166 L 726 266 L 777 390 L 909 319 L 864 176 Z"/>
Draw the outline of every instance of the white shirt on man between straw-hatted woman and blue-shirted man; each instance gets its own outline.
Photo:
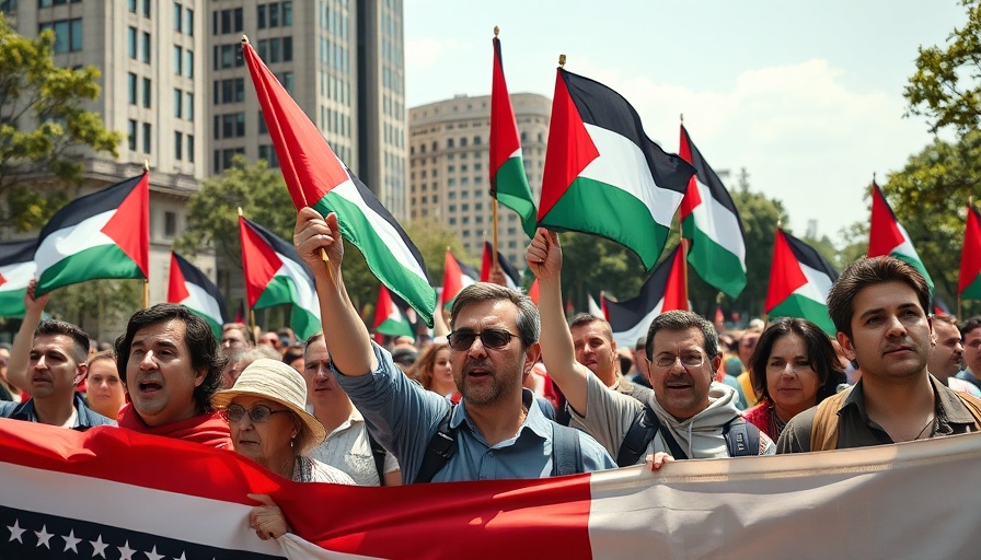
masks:
<path id="1" fill-rule="evenodd" d="M 351 408 L 350 417 L 334 429 L 323 443 L 311 450 L 308 455 L 321 463 L 347 472 L 358 486 L 381 486 L 371 442 L 368 440 L 368 427 L 365 417 L 357 408 Z M 384 471 L 399 470 L 399 462 L 391 453 L 385 453 Z"/>

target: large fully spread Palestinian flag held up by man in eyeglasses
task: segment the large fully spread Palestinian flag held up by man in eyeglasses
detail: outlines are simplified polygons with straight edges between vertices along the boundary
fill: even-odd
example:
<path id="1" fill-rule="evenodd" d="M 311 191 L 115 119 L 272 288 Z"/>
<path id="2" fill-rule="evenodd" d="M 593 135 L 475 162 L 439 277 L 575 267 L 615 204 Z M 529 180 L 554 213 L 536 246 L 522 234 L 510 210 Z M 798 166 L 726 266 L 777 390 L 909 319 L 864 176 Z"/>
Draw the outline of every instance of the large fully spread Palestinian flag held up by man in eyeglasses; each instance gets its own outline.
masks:
<path id="1" fill-rule="evenodd" d="M 694 173 L 647 138 L 620 94 L 558 69 L 540 225 L 615 241 L 651 269 Z"/>

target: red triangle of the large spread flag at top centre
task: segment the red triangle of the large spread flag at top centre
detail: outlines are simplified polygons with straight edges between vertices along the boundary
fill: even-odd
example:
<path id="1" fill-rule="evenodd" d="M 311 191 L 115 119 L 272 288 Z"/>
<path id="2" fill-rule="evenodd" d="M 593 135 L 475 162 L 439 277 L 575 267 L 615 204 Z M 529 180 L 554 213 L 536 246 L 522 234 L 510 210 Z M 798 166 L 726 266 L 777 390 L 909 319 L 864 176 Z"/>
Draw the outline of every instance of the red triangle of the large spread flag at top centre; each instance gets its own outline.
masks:
<path id="1" fill-rule="evenodd" d="M 545 149 L 539 220 L 552 211 L 552 207 L 565 195 L 582 170 L 599 156 L 600 152 L 582 124 L 579 109 L 569 96 L 562 69 L 558 69 L 555 95 L 552 97 L 552 122 Z"/>

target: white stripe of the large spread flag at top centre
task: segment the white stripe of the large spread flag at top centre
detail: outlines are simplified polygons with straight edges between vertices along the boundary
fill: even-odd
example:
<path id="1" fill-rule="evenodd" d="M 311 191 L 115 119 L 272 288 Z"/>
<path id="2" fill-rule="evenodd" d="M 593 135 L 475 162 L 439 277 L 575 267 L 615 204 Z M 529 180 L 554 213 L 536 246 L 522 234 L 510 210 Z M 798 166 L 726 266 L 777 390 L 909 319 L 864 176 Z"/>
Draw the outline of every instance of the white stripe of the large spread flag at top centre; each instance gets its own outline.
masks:
<path id="1" fill-rule="evenodd" d="M 593 125 L 586 125 L 600 156 L 579 174 L 580 177 L 599 180 L 619 188 L 644 202 L 655 222 L 668 228 L 682 192 L 661 188 L 654 183 L 650 167 L 640 148 L 616 132 Z"/>

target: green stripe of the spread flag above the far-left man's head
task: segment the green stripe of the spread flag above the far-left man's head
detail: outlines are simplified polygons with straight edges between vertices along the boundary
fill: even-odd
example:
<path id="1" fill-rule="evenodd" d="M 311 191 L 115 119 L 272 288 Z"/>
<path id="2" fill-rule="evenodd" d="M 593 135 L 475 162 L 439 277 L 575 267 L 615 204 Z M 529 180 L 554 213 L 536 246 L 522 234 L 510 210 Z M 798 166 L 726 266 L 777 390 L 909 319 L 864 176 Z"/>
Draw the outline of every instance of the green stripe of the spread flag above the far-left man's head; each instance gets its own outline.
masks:
<path id="1" fill-rule="evenodd" d="M 118 245 L 100 245 L 62 258 L 42 272 L 37 293 L 105 278 L 143 279 L 143 272 Z"/>

